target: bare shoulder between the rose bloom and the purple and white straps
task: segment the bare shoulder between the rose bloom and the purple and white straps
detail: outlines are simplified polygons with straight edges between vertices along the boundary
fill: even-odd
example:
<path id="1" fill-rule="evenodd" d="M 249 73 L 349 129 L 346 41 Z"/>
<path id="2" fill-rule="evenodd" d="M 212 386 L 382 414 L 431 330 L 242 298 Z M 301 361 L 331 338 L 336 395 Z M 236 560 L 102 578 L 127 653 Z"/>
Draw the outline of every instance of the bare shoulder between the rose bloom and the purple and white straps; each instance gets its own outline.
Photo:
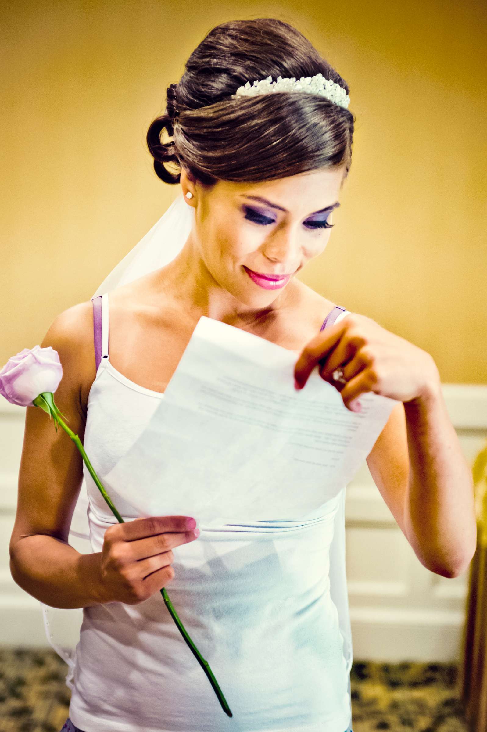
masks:
<path id="1" fill-rule="evenodd" d="M 92 301 L 68 307 L 48 327 L 41 347 L 51 346 L 63 367 L 63 389 L 70 389 L 81 414 L 86 414 L 86 400 L 94 377 L 93 306 Z"/>

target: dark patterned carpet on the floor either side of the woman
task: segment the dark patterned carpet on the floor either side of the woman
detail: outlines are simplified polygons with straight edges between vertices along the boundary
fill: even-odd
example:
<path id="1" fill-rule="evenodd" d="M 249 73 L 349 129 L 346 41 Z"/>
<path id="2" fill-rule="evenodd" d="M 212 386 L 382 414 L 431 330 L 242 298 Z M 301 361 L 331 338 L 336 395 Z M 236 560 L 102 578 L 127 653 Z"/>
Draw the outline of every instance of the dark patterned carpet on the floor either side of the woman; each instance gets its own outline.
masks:
<path id="1" fill-rule="evenodd" d="M 70 705 L 66 673 L 51 649 L 0 649 L 0 731 L 59 732 Z M 456 682 L 456 665 L 355 660 L 354 732 L 468 732 Z"/>

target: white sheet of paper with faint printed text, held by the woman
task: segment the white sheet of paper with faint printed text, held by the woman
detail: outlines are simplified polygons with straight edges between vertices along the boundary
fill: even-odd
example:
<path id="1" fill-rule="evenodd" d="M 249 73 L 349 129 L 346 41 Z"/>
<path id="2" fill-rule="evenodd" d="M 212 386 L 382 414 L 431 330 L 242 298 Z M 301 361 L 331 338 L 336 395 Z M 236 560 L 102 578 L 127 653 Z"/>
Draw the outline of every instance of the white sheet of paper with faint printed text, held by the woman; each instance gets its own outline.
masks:
<path id="1" fill-rule="evenodd" d="M 353 413 L 317 367 L 298 392 L 299 355 L 202 316 L 138 441 L 100 476 L 105 488 L 133 496 L 143 462 L 139 515 L 195 516 L 201 526 L 319 517 L 398 402 L 368 392 Z"/>

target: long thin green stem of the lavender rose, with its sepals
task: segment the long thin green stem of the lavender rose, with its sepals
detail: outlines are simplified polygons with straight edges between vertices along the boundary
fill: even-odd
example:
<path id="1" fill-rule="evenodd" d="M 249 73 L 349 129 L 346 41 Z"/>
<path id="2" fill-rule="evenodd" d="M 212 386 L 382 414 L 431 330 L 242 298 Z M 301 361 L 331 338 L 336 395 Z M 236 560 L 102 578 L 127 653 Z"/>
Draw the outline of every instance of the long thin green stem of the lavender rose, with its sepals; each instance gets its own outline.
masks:
<path id="1" fill-rule="evenodd" d="M 105 501 L 107 502 L 111 511 L 114 513 L 116 520 L 119 523 L 124 523 L 122 516 L 119 514 L 119 512 L 114 507 L 114 504 L 112 503 L 111 498 L 108 496 L 108 493 L 106 492 L 105 488 L 103 488 L 103 485 L 100 482 L 100 479 L 98 478 L 97 474 L 95 473 L 92 463 L 90 463 L 88 455 L 86 455 L 86 452 L 84 451 L 84 447 L 83 447 L 83 444 L 82 444 L 80 438 L 78 437 L 78 435 L 75 435 L 73 430 L 70 430 L 70 427 L 68 427 L 67 424 L 65 422 L 63 422 L 63 420 L 61 419 L 62 413 L 59 411 L 59 409 L 54 404 L 53 394 L 51 392 L 42 392 L 42 394 L 40 394 L 38 397 L 36 397 L 32 403 L 34 404 L 34 406 L 38 406 L 38 407 L 42 408 L 45 412 L 47 412 L 47 414 L 49 414 L 49 417 L 53 417 L 55 425 L 56 425 L 56 431 L 57 431 L 57 425 L 59 424 L 62 426 L 64 432 L 66 432 L 70 436 L 70 438 L 73 440 L 76 447 L 78 448 L 79 452 L 81 453 L 81 457 L 83 458 L 84 463 L 86 464 L 86 467 L 89 470 L 89 474 L 92 476 L 97 487 L 100 489 L 100 493 L 102 494 L 103 498 L 105 498 Z M 64 417 L 64 414 L 62 416 Z M 198 663 L 201 666 L 201 668 L 203 669 L 204 673 L 206 673 L 210 684 L 212 684 L 212 687 L 215 690 L 215 694 L 218 697 L 218 701 L 220 702 L 223 712 L 228 714 L 228 717 L 233 717 L 233 714 L 231 713 L 231 710 L 230 710 L 230 707 L 228 706 L 226 698 L 223 696 L 223 693 L 220 690 L 218 681 L 215 679 L 215 676 L 213 675 L 213 672 L 212 672 L 211 668 L 209 667 L 208 661 L 205 660 L 201 656 L 201 653 L 198 651 L 195 644 L 191 640 L 184 625 L 179 620 L 179 616 L 176 613 L 176 610 L 174 610 L 174 605 L 172 604 L 171 600 L 169 600 L 169 596 L 164 587 L 160 590 L 160 594 L 162 594 L 163 600 L 166 604 L 166 608 L 168 608 L 168 611 L 171 614 L 172 619 L 176 623 L 176 627 L 178 628 L 182 637 L 185 639 L 185 642 L 187 643 L 187 646 L 189 647 L 191 653 L 198 661 Z"/>

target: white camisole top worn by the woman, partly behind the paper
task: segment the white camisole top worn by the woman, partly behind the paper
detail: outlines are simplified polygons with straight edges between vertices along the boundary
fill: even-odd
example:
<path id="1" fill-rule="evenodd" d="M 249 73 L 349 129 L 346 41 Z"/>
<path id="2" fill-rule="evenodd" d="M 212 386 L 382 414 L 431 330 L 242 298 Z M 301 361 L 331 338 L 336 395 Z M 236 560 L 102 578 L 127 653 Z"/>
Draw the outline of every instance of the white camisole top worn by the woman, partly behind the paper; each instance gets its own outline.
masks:
<path id="1" fill-rule="evenodd" d="M 111 364 L 108 293 L 100 298 L 101 357 L 89 392 L 84 448 L 122 518 L 130 521 L 144 515 L 138 513 L 144 511 L 144 464 L 130 505 L 104 476 L 137 440 L 164 395 L 135 384 Z M 347 313 L 335 308 L 324 326 Z M 99 552 L 105 530 L 117 522 L 86 466 L 83 475 L 89 539 Z M 86 732 L 350 731 L 345 489 L 321 506 L 319 518 L 201 525 L 197 539 L 173 550 L 168 596 L 233 717 L 223 712 L 157 592 L 138 605 L 83 608 L 69 711 L 73 724 Z M 159 508 L 153 515 L 165 515 L 164 496 Z"/>

